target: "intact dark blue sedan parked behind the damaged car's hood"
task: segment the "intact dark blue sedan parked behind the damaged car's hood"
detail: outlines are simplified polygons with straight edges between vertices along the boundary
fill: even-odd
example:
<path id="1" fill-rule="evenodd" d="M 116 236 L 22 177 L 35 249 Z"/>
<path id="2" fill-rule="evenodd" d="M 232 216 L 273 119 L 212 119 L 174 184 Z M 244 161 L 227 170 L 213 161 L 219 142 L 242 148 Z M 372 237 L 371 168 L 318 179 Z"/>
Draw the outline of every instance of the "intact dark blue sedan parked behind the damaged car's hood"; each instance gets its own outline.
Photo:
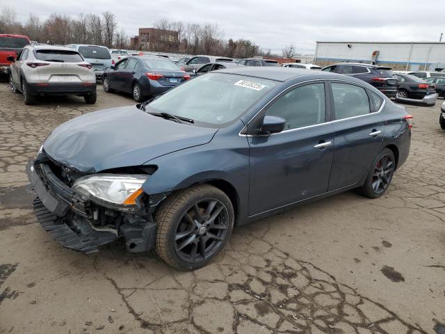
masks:
<path id="1" fill-rule="evenodd" d="M 131 93 L 136 102 L 164 93 L 190 76 L 172 61 L 156 56 L 124 58 L 104 72 L 104 91 Z"/>

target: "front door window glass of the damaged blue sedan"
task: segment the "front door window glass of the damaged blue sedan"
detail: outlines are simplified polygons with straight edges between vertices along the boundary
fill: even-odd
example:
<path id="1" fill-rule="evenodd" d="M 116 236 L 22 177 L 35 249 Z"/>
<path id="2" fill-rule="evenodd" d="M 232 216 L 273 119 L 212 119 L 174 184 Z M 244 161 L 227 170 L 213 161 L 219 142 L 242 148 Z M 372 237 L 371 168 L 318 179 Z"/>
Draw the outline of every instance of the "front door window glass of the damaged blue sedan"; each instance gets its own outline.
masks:
<path id="1" fill-rule="evenodd" d="M 309 84 L 291 90 L 274 102 L 266 115 L 284 118 L 285 130 L 325 122 L 325 84 Z"/>

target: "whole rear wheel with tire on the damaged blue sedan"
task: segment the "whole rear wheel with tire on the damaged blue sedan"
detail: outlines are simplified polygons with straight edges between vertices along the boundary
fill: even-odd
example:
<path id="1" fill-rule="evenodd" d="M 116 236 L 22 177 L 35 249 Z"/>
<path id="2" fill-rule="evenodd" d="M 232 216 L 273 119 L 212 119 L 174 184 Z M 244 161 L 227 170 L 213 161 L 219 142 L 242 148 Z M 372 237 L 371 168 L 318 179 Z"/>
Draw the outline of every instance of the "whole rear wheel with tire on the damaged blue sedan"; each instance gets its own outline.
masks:
<path id="1" fill-rule="evenodd" d="M 386 166 L 382 166 L 383 163 L 382 159 L 384 157 L 388 158 L 388 161 L 391 162 L 391 165 L 386 164 Z M 394 157 L 394 153 L 391 150 L 389 150 L 389 148 L 384 148 L 373 159 L 373 162 L 371 163 L 371 168 L 369 168 L 369 173 L 366 176 L 366 181 L 364 182 L 364 185 L 357 190 L 363 196 L 369 198 L 379 198 L 387 191 L 389 184 L 391 183 L 392 177 L 394 175 L 395 167 L 396 167 L 396 158 Z M 378 180 L 380 180 L 379 183 L 377 183 Z"/>

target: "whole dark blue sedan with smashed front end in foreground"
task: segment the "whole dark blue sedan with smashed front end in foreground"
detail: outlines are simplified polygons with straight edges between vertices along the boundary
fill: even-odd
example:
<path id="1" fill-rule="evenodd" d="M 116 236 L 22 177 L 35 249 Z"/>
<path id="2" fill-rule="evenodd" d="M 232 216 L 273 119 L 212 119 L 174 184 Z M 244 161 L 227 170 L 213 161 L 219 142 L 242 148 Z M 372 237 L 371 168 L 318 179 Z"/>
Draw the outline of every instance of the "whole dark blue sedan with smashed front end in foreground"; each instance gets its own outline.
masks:
<path id="1" fill-rule="evenodd" d="M 350 189 L 382 196 L 411 127 L 362 80 L 232 67 L 60 125 L 27 173 L 38 220 L 63 246 L 91 253 L 122 238 L 192 270 L 234 225 Z"/>

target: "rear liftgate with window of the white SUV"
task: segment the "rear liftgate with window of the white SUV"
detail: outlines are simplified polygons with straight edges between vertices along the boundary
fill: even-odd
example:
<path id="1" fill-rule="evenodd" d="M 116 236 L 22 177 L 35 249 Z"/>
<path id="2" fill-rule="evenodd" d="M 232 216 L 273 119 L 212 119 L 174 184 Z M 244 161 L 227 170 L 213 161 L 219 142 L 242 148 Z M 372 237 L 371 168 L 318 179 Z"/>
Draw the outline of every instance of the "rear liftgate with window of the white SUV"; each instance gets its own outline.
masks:
<path id="1" fill-rule="evenodd" d="M 74 50 L 38 49 L 35 50 L 35 59 L 49 63 L 37 67 L 39 79 L 44 83 L 80 84 L 88 79 L 88 68 L 78 65 L 83 58 Z"/>

